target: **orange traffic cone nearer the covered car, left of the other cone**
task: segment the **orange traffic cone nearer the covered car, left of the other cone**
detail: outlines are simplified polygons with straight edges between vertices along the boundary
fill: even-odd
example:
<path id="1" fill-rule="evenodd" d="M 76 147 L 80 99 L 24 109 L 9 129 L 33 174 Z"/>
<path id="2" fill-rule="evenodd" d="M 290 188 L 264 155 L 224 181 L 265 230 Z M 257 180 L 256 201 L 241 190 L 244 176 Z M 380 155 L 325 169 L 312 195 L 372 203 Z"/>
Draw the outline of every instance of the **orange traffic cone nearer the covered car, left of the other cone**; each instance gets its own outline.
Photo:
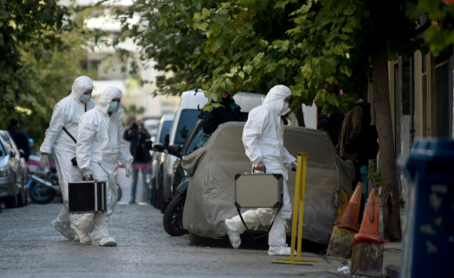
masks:
<path id="1" fill-rule="evenodd" d="M 351 231 L 360 231 L 356 223 L 358 223 L 358 218 L 360 217 L 362 186 L 364 186 L 364 184 L 361 182 L 356 185 L 355 191 L 351 194 L 349 203 L 343 211 L 341 219 L 334 222 L 336 225 Z"/>

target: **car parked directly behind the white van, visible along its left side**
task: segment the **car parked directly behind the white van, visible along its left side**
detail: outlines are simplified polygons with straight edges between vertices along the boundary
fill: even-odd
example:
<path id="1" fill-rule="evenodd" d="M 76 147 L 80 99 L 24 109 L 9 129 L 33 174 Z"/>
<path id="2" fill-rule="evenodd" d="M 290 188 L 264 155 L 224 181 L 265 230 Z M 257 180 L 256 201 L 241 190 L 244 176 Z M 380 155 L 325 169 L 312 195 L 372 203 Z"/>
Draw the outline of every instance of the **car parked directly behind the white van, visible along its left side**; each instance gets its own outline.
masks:
<path id="1" fill-rule="evenodd" d="M 150 151 L 152 156 L 153 164 L 152 164 L 152 205 L 156 208 L 159 208 L 158 200 L 162 200 L 163 198 L 159 198 L 159 195 L 162 194 L 162 177 L 163 177 L 163 143 L 164 137 L 166 134 L 169 134 L 172 123 L 173 123 L 174 114 L 164 114 L 161 118 L 161 121 L 158 124 L 158 131 L 156 134 L 156 139 L 153 142 L 153 150 Z M 155 151 L 156 146 L 160 148 L 161 151 Z M 162 203 L 162 202 L 161 202 Z"/>

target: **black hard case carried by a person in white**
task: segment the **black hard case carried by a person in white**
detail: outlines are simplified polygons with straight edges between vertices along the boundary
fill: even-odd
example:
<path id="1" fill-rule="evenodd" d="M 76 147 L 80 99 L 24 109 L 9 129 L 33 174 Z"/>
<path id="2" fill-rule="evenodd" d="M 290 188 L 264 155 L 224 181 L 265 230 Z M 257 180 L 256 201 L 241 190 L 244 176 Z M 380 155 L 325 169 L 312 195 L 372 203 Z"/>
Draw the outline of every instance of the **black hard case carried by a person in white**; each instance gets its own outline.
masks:
<path id="1" fill-rule="evenodd" d="M 68 183 L 69 213 L 106 213 L 105 182 Z"/>

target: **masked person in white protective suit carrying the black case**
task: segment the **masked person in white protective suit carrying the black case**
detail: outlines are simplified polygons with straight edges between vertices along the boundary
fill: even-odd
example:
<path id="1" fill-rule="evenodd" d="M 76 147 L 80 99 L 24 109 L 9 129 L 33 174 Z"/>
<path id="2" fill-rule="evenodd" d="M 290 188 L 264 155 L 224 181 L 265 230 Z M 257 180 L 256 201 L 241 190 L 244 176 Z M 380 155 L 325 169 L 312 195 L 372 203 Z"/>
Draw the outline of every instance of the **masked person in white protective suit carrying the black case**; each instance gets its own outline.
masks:
<path id="1" fill-rule="evenodd" d="M 85 113 L 79 121 L 79 132 L 75 154 L 77 164 L 89 180 L 106 182 L 107 213 L 85 214 L 79 223 L 72 223 L 80 242 L 91 244 L 89 233 L 94 230 L 94 241 L 100 246 L 116 246 L 109 232 L 109 220 L 114 213 L 118 199 L 118 162 L 125 169 L 126 176 L 133 174 L 133 155 L 124 146 L 123 109 L 120 106 L 122 92 L 116 87 L 107 87 L 98 99 L 93 110 Z"/>

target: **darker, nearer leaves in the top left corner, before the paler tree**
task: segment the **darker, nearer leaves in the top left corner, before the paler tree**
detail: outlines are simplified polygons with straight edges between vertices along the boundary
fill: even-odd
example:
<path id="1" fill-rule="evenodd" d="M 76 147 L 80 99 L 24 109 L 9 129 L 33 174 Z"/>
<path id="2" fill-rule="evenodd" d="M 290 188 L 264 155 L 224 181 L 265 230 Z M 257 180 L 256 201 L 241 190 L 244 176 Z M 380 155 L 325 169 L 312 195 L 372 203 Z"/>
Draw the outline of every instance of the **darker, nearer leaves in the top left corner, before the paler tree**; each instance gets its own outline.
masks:
<path id="1" fill-rule="evenodd" d="M 66 7 L 54 1 L 0 1 L 0 112 L 14 111 L 15 103 L 33 95 L 35 71 L 24 55 L 48 59 L 51 52 L 67 49 L 60 32 L 71 30 Z M 23 96 L 25 94 L 25 96 Z"/>

